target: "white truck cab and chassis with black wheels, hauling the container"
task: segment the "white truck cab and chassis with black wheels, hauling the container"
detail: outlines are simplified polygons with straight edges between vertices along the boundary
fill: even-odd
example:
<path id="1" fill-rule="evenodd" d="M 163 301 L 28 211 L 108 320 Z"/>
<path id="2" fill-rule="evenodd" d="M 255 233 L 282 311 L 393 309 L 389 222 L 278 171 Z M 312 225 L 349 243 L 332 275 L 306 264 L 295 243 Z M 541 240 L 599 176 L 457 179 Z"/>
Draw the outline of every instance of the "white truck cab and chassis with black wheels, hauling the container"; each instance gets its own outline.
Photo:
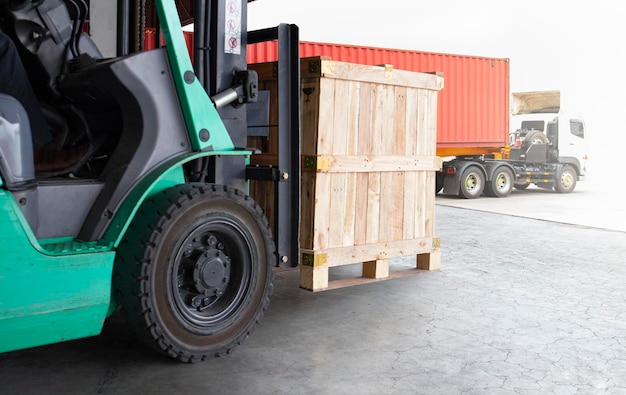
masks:
<path id="1" fill-rule="evenodd" d="M 444 162 L 443 193 L 472 199 L 506 197 L 535 184 L 574 190 L 587 171 L 585 124 L 561 111 L 559 91 L 511 95 L 509 146 L 502 153 L 457 156 Z"/>

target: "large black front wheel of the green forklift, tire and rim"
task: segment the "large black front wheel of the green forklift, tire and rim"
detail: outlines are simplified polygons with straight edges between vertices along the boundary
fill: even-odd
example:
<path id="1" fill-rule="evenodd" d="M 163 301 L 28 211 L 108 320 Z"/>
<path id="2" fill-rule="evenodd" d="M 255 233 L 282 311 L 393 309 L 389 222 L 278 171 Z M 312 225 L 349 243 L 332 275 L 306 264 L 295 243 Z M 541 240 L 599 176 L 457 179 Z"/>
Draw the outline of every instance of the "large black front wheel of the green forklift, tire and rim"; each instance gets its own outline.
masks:
<path id="1" fill-rule="evenodd" d="M 228 354 L 269 305 L 275 249 L 262 210 L 226 186 L 182 185 L 140 207 L 115 261 L 138 337 L 183 362 Z"/>

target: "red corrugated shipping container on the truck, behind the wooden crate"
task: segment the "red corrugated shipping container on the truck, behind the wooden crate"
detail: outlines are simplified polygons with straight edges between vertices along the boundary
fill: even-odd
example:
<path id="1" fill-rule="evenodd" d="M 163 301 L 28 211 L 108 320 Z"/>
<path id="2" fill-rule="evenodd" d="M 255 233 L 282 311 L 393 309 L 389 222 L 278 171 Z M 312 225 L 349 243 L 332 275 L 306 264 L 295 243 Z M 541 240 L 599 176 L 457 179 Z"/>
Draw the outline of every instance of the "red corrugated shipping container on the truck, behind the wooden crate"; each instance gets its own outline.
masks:
<path id="1" fill-rule="evenodd" d="M 437 113 L 437 155 L 499 151 L 508 141 L 509 60 L 356 45 L 301 42 L 300 56 L 328 56 L 364 65 L 443 73 Z M 276 42 L 248 46 L 248 63 L 273 62 Z"/>

